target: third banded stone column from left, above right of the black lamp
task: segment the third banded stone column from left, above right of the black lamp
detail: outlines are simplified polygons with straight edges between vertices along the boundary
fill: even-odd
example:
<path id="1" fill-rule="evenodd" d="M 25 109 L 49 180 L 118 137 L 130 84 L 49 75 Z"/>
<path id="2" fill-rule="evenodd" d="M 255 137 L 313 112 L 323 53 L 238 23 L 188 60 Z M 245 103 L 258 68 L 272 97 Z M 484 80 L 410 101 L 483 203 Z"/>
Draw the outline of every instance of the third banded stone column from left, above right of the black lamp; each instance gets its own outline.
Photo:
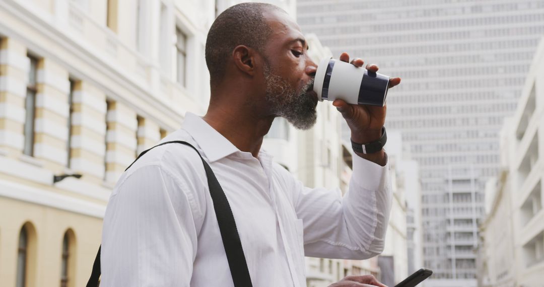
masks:
<path id="1" fill-rule="evenodd" d="M 70 169 L 83 179 L 104 180 L 106 155 L 106 95 L 94 85 L 73 86 Z"/>

